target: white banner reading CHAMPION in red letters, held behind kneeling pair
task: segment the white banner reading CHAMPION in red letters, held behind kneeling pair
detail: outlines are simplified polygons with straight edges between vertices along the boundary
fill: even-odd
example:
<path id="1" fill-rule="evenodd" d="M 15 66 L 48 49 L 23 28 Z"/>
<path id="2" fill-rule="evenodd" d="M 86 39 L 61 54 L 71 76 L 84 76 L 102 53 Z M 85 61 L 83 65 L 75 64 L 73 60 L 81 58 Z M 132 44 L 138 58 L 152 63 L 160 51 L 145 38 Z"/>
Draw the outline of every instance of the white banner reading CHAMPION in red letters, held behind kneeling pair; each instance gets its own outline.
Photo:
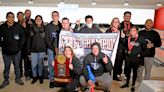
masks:
<path id="1" fill-rule="evenodd" d="M 65 46 L 72 47 L 75 55 L 83 62 L 85 56 L 91 52 L 91 44 L 99 42 L 101 51 L 110 57 L 112 64 L 115 63 L 119 33 L 72 33 L 61 31 L 59 37 L 59 53 L 63 53 Z"/>

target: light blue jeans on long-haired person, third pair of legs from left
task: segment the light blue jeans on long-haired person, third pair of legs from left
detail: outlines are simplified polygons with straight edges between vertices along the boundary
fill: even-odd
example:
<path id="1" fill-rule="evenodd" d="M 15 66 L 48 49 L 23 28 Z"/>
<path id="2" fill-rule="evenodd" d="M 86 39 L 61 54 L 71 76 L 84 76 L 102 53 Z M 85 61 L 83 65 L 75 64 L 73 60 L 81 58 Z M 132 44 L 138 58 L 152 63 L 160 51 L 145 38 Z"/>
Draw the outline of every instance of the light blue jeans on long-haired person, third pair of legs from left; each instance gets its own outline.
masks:
<path id="1" fill-rule="evenodd" d="M 31 66 L 33 77 L 43 76 L 43 61 L 45 57 L 45 52 L 32 52 L 31 53 Z"/>

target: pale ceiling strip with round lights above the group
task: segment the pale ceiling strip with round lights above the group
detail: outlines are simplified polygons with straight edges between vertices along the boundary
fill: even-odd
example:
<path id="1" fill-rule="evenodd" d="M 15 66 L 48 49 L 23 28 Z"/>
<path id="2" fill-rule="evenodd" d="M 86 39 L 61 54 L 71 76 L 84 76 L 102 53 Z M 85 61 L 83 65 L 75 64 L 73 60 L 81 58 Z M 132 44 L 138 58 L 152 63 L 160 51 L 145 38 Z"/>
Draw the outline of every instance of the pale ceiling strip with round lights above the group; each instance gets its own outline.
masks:
<path id="1" fill-rule="evenodd" d="M 57 6 L 62 0 L 32 0 L 33 4 L 28 4 L 29 0 L 0 0 L 0 6 Z M 63 0 L 65 4 L 79 4 L 80 7 L 98 8 L 157 8 L 156 4 L 164 6 L 164 0 Z M 91 5 L 95 1 L 96 5 Z M 124 2 L 129 3 L 124 6 Z"/>

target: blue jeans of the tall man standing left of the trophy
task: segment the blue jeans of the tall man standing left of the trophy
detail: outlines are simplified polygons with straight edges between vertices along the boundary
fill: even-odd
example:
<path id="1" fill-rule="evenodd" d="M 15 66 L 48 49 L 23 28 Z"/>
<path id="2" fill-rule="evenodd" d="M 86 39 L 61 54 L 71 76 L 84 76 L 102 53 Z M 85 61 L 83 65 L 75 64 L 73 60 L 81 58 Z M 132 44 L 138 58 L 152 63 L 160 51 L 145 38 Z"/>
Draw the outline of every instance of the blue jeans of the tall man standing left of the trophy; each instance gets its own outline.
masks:
<path id="1" fill-rule="evenodd" d="M 47 59 L 48 59 L 48 68 L 49 68 L 49 79 L 50 82 L 54 81 L 54 67 L 52 66 L 52 62 L 55 59 L 55 51 L 52 51 L 51 49 L 47 49 Z"/>

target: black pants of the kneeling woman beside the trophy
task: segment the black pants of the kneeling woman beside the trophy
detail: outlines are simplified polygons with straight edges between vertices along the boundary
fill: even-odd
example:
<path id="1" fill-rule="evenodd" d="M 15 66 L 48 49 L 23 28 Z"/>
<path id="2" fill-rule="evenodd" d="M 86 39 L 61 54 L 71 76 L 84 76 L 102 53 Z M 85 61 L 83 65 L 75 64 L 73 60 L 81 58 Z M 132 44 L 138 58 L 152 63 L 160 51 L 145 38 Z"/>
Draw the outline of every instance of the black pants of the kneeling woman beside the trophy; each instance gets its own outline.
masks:
<path id="1" fill-rule="evenodd" d="M 76 89 L 78 84 L 79 84 L 79 79 L 78 78 L 73 78 L 71 83 L 66 84 L 65 92 L 72 92 L 73 90 Z"/>

